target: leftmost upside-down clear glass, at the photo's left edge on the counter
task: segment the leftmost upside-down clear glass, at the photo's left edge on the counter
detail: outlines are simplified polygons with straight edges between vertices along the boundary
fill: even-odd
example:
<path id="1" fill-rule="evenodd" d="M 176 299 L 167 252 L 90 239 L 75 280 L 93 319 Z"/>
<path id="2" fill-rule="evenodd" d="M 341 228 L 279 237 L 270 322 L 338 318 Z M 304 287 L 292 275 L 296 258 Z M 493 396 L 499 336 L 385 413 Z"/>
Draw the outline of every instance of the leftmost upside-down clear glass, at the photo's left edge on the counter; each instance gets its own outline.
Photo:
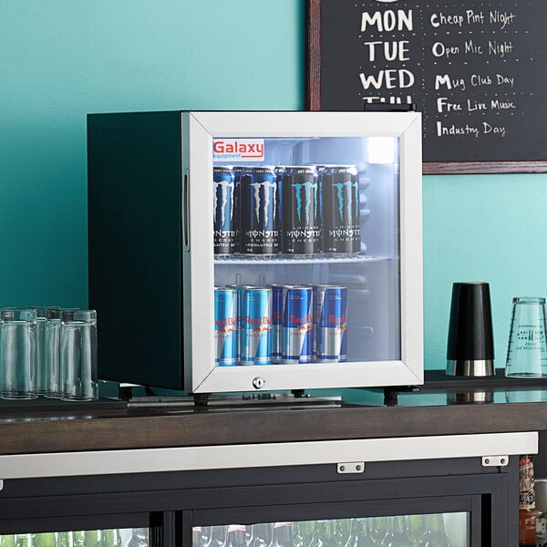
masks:
<path id="1" fill-rule="evenodd" d="M 0 325 L 0 397 L 36 398 L 36 311 L 5 308 Z"/>

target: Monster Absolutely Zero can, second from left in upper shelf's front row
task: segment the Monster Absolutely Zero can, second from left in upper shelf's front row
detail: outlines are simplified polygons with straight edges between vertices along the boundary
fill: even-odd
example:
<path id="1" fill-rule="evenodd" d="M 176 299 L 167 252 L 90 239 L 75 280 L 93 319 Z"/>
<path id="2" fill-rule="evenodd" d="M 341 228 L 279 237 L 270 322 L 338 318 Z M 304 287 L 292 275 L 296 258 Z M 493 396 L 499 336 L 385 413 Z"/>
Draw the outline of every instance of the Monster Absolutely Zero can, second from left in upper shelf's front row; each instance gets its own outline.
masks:
<path id="1" fill-rule="evenodd" d="M 277 254 L 277 179 L 273 167 L 243 170 L 240 187 L 241 253 Z"/>

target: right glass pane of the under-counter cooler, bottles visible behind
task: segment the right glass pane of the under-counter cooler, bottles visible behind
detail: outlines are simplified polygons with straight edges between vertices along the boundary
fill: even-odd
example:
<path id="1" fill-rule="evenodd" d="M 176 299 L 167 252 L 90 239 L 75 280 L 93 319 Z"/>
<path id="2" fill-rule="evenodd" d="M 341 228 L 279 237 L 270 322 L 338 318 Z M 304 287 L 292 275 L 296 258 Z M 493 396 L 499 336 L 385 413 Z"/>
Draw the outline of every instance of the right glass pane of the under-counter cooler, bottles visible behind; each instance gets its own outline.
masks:
<path id="1" fill-rule="evenodd" d="M 467 547 L 468 512 L 195 526 L 192 547 Z"/>

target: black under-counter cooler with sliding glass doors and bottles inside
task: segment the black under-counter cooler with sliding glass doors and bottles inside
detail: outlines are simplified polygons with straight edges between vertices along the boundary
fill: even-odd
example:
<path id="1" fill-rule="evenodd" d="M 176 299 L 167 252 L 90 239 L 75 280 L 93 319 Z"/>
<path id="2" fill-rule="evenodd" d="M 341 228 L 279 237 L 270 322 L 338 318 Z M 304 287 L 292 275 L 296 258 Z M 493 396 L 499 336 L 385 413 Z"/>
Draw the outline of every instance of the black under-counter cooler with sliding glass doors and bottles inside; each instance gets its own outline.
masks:
<path id="1" fill-rule="evenodd" d="M 222 452 L 222 448 L 218 448 Z M 70 458 L 60 454 L 59 458 Z M 70 472 L 70 465 L 65 465 Z M 518 459 L 5 480 L 4 547 L 510 547 Z M 90 469 L 93 472 L 93 469 Z"/>

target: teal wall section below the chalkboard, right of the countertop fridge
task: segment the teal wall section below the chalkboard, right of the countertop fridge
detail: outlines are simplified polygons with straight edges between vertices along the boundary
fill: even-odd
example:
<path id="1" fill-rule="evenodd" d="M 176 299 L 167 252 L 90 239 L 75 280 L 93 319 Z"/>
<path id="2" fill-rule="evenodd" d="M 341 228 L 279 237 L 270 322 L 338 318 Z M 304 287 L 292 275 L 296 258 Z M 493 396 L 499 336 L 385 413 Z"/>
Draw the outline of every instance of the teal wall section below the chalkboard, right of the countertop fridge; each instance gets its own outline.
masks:
<path id="1" fill-rule="evenodd" d="M 444 368 L 452 283 L 490 284 L 496 367 L 511 299 L 547 295 L 547 175 L 424 177 L 424 330 L 428 368 Z"/>

